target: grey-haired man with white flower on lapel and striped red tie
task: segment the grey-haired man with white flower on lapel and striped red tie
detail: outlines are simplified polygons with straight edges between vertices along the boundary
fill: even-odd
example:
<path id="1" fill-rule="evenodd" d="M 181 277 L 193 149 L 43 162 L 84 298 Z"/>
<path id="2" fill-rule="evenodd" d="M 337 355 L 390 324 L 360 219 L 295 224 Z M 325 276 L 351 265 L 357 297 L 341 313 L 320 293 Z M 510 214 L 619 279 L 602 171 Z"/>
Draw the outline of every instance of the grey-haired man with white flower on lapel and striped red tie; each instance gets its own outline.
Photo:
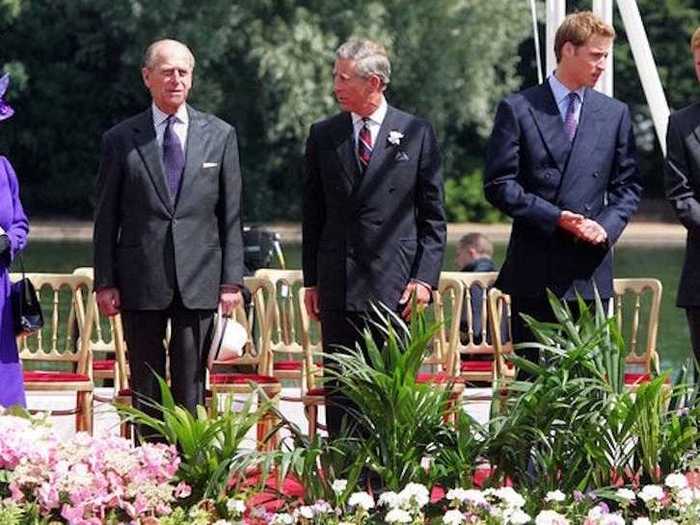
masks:
<path id="1" fill-rule="evenodd" d="M 350 40 L 336 52 L 341 113 L 311 126 L 306 144 L 305 306 L 324 352 L 355 347 L 372 302 L 404 317 L 437 287 L 445 245 L 440 154 L 426 120 L 387 105 L 384 48 Z M 330 364 L 330 363 L 328 363 Z M 345 412 L 326 408 L 330 435 Z"/>

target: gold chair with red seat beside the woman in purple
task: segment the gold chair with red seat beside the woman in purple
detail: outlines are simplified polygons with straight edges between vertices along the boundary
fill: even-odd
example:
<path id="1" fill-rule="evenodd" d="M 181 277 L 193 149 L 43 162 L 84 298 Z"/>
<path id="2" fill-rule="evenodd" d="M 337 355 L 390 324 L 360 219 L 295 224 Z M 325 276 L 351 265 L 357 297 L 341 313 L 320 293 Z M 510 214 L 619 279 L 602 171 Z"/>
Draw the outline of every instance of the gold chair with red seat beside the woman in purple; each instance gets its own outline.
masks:
<path id="1" fill-rule="evenodd" d="M 44 328 L 18 338 L 29 392 L 74 392 L 75 407 L 51 410 L 75 415 L 76 429 L 92 433 L 93 378 L 90 338 L 95 322 L 92 279 L 84 275 L 28 273 L 44 309 Z M 13 280 L 21 278 L 13 274 Z M 74 312 L 71 314 L 71 312 Z M 74 321 L 78 337 L 73 337 Z"/>

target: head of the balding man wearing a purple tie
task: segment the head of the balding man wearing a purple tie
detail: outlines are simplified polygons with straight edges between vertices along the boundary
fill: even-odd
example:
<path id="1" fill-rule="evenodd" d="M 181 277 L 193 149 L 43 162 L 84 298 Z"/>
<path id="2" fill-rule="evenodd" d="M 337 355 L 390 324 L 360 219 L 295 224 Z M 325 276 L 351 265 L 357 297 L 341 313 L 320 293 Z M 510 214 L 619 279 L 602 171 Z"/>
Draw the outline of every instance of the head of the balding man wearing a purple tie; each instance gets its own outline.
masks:
<path id="1" fill-rule="evenodd" d="M 190 60 L 185 47 L 166 42 L 156 49 L 153 65 L 141 71 L 153 102 L 164 113 L 175 113 L 187 101 L 192 87 Z"/>

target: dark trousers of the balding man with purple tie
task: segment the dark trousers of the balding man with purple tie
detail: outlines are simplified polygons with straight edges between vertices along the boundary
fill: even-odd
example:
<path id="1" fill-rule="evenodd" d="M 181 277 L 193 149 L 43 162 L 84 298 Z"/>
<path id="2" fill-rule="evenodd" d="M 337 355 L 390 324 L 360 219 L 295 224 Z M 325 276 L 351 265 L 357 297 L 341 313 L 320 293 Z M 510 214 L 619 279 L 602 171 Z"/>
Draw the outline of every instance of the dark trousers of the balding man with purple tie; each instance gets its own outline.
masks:
<path id="1" fill-rule="evenodd" d="M 165 310 L 123 310 L 124 339 L 129 352 L 131 389 L 134 406 L 154 417 L 158 410 L 145 400 L 160 403 L 160 388 L 155 374 L 165 378 L 164 345 L 168 320 L 171 321 L 171 391 L 175 403 L 194 412 L 204 404 L 204 349 L 209 340 L 212 310 L 189 310 L 179 297 Z M 137 428 L 138 435 L 145 429 Z M 150 431 L 145 430 L 146 433 Z"/>

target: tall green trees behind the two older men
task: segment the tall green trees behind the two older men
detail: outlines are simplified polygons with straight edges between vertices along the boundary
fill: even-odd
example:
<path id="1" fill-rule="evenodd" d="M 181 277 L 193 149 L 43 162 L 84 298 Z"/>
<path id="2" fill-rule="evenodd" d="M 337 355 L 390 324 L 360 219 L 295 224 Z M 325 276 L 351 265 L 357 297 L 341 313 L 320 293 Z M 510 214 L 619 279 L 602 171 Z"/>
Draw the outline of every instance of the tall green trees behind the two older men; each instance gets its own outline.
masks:
<path id="1" fill-rule="evenodd" d="M 445 176 L 458 178 L 462 151 L 479 154 L 496 101 L 517 88 L 527 12 L 509 0 L 3 0 L 17 109 L 3 153 L 31 216 L 89 216 L 100 136 L 147 107 L 141 56 L 170 36 L 197 58 L 193 105 L 238 129 L 245 219 L 299 219 L 307 130 L 337 111 L 334 51 L 360 35 L 387 44 L 390 103 L 435 124 Z"/>

